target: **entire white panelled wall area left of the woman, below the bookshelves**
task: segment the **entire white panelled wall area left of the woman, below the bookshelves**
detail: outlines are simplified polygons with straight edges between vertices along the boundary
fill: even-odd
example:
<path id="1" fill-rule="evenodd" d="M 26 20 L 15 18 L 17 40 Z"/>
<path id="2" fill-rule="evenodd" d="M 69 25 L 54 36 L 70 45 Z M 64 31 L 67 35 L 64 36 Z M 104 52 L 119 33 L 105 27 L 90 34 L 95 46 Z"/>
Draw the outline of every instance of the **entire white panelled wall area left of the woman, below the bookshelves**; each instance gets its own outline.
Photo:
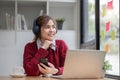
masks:
<path id="1" fill-rule="evenodd" d="M 0 75 L 10 75 L 13 67 L 22 66 L 24 45 L 32 38 L 31 32 L 0 32 Z"/>

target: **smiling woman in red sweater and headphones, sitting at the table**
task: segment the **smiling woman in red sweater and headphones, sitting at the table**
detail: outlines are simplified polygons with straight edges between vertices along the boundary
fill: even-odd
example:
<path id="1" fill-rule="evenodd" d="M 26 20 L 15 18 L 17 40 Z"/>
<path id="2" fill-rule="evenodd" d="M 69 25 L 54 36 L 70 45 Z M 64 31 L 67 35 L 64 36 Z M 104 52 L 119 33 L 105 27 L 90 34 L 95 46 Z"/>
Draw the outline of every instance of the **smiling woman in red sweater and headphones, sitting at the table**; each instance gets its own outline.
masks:
<path id="1" fill-rule="evenodd" d="M 61 75 L 68 47 L 63 40 L 55 40 L 56 22 L 50 16 L 39 16 L 33 26 L 35 39 L 24 48 L 23 67 L 27 76 Z M 48 66 L 39 63 L 47 58 Z M 40 65 L 41 66 L 40 66 Z"/>

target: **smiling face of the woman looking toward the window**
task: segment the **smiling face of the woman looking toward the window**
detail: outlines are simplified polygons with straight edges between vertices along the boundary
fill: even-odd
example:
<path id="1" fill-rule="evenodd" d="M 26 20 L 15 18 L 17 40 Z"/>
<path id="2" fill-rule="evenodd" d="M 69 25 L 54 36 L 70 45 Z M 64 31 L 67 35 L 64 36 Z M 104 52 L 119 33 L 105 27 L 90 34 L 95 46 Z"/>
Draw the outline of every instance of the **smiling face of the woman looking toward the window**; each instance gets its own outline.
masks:
<path id="1" fill-rule="evenodd" d="M 41 27 L 41 40 L 52 41 L 56 35 L 56 26 L 52 20 L 49 20 L 46 26 Z"/>

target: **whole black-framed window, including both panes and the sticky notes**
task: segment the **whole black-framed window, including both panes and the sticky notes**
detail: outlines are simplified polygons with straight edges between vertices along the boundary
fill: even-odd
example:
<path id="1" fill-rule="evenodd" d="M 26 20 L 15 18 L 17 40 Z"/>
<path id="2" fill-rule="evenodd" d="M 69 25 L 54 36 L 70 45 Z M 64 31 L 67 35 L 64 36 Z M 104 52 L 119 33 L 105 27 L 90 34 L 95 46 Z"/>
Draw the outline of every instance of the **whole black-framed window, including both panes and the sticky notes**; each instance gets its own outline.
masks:
<path id="1" fill-rule="evenodd" d="M 108 6 L 112 9 L 107 10 Z M 92 49 L 106 51 L 106 60 L 112 65 L 112 70 L 106 73 L 117 77 L 120 76 L 119 22 L 119 0 L 80 0 L 80 48 L 94 46 Z"/>

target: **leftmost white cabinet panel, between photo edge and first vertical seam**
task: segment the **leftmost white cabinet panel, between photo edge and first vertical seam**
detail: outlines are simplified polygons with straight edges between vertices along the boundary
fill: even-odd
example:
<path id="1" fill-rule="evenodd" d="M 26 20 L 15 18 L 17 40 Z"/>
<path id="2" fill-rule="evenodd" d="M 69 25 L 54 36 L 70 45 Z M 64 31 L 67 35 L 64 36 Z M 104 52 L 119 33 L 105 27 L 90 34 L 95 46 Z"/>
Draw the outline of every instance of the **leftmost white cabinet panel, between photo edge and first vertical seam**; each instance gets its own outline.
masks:
<path id="1" fill-rule="evenodd" d="M 16 56 L 15 32 L 0 32 L 0 75 L 7 75 L 17 64 Z"/>

